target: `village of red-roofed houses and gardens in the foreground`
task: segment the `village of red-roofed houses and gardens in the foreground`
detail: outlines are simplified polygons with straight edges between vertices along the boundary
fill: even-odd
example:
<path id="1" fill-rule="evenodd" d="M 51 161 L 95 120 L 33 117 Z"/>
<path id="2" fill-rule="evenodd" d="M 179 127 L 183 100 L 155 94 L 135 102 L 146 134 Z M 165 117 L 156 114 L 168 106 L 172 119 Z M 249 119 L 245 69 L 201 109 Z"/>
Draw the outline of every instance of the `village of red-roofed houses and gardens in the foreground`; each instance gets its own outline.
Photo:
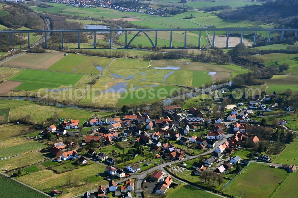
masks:
<path id="1" fill-rule="evenodd" d="M 274 125 L 277 128 L 268 127 L 259 119 L 261 116 L 257 116 L 278 108 L 270 104 L 270 97 L 274 96 L 227 104 L 224 117 L 214 117 L 216 114 L 204 105 L 200 110 L 181 109 L 181 105 L 164 106 L 160 116 L 150 110 L 128 111 L 123 106 L 122 114 L 94 115 L 83 125 L 79 120 L 60 118 L 59 124 L 50 125 L 39 137 L 54 139 L 50 153 L 55 164 L 49 169 L 54 170 L 67 161 L 75 161 L 74 168 L 91 163 L 105 166 L 105 171 L 96 176 L 103 177 L 108 185 L 98 186 L 95 193 L 87 191 L 83 197 L 108 197 L 109 193 L 135 197 L 136 178 L 153 168 L 158 169 L 150 171 L 139 184 L 149 197 L 165 195 L 171 187 L 179 185 L 177 179 L 193 185 L 199 183 L 201 188 L 217 192 L 252 163 L 265 163 L 289 173 L 295 171 L 294 164 L 270 163 L 268 135 L 270 139 L 287 123 L 280 119 Z M 293 110 L 291 106 L 284 109 Z M 286 136 L 293 139 L 292 133 Z M 69 139 L 74 141 L 69 142 Z M 53 195 L 62 193 L 52 191 Z"/>

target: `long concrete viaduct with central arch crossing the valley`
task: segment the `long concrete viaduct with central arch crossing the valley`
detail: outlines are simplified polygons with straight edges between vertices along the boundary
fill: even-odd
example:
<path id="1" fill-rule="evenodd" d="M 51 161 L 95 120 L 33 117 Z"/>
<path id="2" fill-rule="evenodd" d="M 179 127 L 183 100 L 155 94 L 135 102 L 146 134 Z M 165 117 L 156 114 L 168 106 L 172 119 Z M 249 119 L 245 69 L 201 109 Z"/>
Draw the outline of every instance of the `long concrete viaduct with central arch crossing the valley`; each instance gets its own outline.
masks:
<path id="1" fill-rule="evenodd" d="M 201 44 L 201 31 L 213 31 L 213 39 L 212 39 L 212 48 L 214 48 L 214 41 L 215 41 L 215 33 L 216 31 L 226 31 L 227 32 L 227 37 L 226 37 L 226 48 L 229 46 L 229 32 L 230 31 L 240 31 L 241 36 L 240 36 L 240 43 L 242 43 L 243 39 L 243 31 L 254 31 L 254 45 L 256 44 L 257 41 L 257 32 L 258 31 L 268 31 L 268 38 L 267 38 L 267 43 L 270 42 L 270 33 L 271 31 L 278 31 L 281 32 L 281 39 L 284 38 L 284 33 L 285 31 L 291 31 L 293 32 L 293 35 L 297 36 L 298 29 L 244 29 L 244 28 L 201 28 L 201 29 L 73 29 L 73 30 L 18 30 L 18 31 L 0 31 L 0 33 L 8 33 L 10 34 L 10 45 L 13 45 L 13 34 L 14 33 L 27 33 L 27 41 L 28 41 L 28 48 L 30 48 L 30 34 L 29 33 L 44 33 L 44 40 L 45 40 L 45 48 L 47 48 L 47 34 L 51 32 L 61 32 L 61 45 L 63 48 L 63 33 L 64 32 L 77 32 L 78 37 L 77 37 L 77 48 L 80 48 L 80 33 L 81 32 L 94 32 L 94 49 L 96 49 L 96 33 L 97 32 L 109 32 L 110 34 L 110 39 L 109 39 L 109 48 L 112 48 L 112 32 L 124 32 L 125 34 L 125 43 L 124 47 L 129 48 L 131 45 L 132 41 L 140 34 L 144 33 L 146 37 L 148 37 L 148 40 L 150 41 L 151 45 L 153 48 L 157 47 L 157 38 L 158 38 L 158 32 L 160 31 L 170 31 L 170 43 L 169 43 L 169 48 L 172 48 L 172 34 L 173 31 L 184 31 L 184 48 L 186 48 L 186 38 L 187 38 L 187 31 L 199 31 L 198 35 L 198 48 L 200 48 Z M 130 41 L 127 43 L 127 32 L 136 32 L 134 37 L 131 38 Z M 146 32 L 155 32 L 155 42 L 151 40 L 151 38 L 146 34 Z"/>

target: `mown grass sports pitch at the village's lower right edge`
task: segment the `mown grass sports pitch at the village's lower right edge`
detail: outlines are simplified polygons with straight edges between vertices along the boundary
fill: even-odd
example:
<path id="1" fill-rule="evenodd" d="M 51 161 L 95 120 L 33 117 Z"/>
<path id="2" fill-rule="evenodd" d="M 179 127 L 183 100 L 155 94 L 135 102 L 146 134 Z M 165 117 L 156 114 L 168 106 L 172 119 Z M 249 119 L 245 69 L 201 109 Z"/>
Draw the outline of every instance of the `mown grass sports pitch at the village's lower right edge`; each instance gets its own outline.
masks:
<path id="1" fill-rule="evenodd" d="M 252 163 L 224 189 L 224 192 L 239 196 L 240 190 L 242 190 L 247 198 L 270 197 L 271 193 L 275 191 L 281 181 L 285 180 L 288 174 L 283 169 L 270 168 L 268 164 Z"/>

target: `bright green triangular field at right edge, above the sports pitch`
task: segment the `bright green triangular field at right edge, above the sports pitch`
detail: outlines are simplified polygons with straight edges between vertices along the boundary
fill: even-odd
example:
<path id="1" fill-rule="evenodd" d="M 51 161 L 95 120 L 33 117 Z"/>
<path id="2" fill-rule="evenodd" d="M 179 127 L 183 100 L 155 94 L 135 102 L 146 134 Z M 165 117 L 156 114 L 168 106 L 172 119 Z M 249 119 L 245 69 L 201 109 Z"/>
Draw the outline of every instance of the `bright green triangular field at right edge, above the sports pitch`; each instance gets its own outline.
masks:
<path id="1" fill-rule="evenodd" d="M 288 144 L 287 147 L 272 161 L 277 164 L 297 164 L 295 159 L 298 159 L 298 140 L 294 139 L 294 142 Z"/>

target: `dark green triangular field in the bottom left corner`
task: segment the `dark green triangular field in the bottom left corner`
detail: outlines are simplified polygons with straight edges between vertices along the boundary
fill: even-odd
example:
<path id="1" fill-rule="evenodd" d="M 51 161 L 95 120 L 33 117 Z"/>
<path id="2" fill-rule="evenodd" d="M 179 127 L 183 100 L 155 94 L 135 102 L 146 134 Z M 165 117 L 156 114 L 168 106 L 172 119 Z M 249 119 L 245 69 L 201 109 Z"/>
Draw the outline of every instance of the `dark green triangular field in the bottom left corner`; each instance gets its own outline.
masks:
<path id="1" fill-rule="evenodd" d="M 3 197 L 19 197 L 22 198 L 47 198 L 48 196 L 39 193 L 21 183 L 12 180 L 9 177 L 0 175 L 0 191 Z"/>

